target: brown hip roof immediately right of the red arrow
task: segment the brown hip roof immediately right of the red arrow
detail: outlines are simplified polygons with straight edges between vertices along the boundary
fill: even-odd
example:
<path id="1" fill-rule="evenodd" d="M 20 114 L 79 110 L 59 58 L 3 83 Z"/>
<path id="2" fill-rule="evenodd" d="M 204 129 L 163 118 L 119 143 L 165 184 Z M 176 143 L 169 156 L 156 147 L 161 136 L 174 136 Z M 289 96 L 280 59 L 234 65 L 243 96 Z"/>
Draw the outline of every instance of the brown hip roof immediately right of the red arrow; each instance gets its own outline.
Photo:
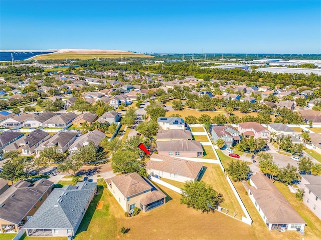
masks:
<path id="1" fill-rule="evenodd" d="M 157 142 L 158 152 L 204 152 L 199 141 L 175 140 Z"/>

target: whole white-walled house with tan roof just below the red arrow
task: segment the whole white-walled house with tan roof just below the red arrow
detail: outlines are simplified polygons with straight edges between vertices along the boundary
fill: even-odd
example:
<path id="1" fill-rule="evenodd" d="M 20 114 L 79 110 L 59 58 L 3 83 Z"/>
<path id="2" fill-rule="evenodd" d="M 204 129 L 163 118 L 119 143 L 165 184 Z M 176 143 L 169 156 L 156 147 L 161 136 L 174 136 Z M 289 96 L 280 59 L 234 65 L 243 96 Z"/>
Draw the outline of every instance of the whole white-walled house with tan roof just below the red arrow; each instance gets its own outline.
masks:
<path id="1" fill-rule="evenodd" d="M 186 182 L 198 180 L 203 170 L 203 163 L 152 154 L 145 167 L 149 175 Z"/>

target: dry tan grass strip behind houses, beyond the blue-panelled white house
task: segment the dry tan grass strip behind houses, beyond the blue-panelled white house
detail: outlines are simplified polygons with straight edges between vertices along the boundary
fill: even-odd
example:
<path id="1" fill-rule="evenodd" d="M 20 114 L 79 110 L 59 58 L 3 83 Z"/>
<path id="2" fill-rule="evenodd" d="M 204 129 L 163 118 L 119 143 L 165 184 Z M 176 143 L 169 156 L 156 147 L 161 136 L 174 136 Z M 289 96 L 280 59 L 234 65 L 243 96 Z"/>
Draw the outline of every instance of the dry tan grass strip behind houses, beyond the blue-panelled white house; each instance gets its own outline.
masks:
<path id="1" fill-rule="evenodd" d="M 207 114 L 209 115 L 211 118 L 219 115 L 219 114 L 223 114 L 224 115 L 225 111 L 224 110 L 218 110 L 218 111 L 197 111 L 197 110 L 192 110 L 192 109 L 184 109 L 181 111 L 168 111 L 166 112 L 166 117 L 171 116 L 172 114 L 180 114 L 182 116 L 182 118 L 186 118 L 189 115 L 195 116 L 196 118 L 199 118 L 202 114 Z M 245 116 L 245 115 L 251 115 L 256 117 L 257 113 L 241 113 L 240 111 L 234 111 L 233 114 L 239 116 L 240 118 Z"/>

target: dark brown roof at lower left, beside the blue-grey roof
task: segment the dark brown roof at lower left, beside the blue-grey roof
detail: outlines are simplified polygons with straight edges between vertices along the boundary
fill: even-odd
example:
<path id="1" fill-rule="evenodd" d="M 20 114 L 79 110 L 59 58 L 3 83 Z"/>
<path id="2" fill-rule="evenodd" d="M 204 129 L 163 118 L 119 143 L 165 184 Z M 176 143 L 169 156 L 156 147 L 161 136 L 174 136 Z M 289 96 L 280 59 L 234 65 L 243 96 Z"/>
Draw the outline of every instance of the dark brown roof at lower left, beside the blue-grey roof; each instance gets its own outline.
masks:
<path id="1" fill-rule="evenodd" d="M 52 185 L 47 179 L 34 184 L 24 180 L 16 182 L 0 196 L 0 204 L 5 204 L 0 207 L 0 218 L 18 224 Z"/>

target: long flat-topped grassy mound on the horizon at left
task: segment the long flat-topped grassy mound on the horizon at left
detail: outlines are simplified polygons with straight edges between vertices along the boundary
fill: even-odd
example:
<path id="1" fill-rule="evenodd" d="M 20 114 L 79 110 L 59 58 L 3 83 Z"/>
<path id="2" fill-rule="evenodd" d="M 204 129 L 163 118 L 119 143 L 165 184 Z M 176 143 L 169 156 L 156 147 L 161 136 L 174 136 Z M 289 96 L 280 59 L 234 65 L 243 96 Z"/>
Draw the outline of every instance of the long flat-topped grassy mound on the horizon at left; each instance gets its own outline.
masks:
<path id="1" fill-rule="evenodd" d="M 121 56 L 122 54 L 122 56 Z M 37 60 L 57 60 L 57 59 L 96 59 L 96 58 L 109 58 L 109 59 L 120 59 L 121 57 L 125 58 L 152 58 L 152 56 L 144 55 L 144 54 L 134 54 L 134 53 L 81 53 L 77 54 L 76 52 L 67 52 L 67 53 L 55 53 L 55 54 L 43 54 L 33 57 L 32 59 Z M 55 70 L 53 70 L 55 71 Z M 62 70 L 64 71 L 64 70 Z"/>

